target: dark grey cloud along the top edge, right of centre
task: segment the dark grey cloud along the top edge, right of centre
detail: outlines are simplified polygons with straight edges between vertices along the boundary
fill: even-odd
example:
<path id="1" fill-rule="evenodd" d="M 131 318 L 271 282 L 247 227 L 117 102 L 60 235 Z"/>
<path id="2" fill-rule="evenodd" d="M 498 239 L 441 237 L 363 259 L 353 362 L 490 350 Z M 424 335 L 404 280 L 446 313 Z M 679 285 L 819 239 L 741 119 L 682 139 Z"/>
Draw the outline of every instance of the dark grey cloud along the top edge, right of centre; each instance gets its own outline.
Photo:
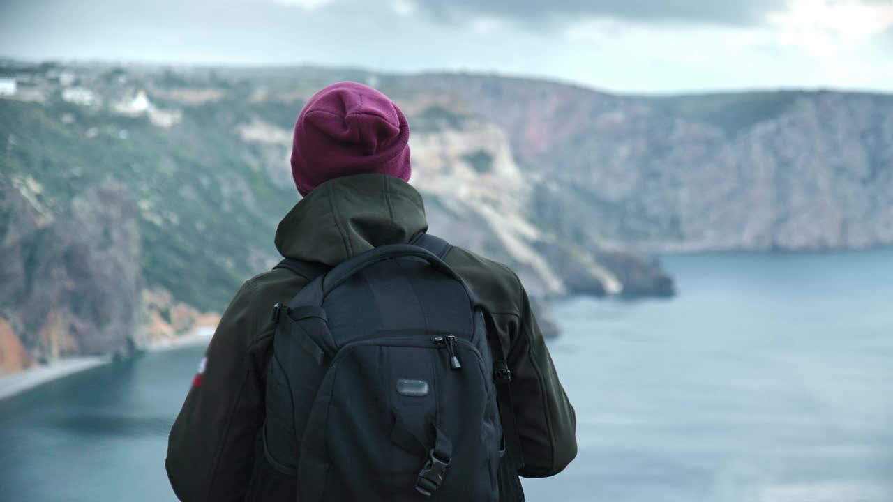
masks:
<path id="1" fill-rule="evenodd" d="M 872 0 L 867 0 L 872 1 Z M 889 0 L 888 0 L 889 1 Z M 438 20 L 457 22 L 470 15 L 521 21 L 529 27 L 584 17 L 623 21 L 749 25 L 783 10 L 783 0 L 417 0 Z"/>

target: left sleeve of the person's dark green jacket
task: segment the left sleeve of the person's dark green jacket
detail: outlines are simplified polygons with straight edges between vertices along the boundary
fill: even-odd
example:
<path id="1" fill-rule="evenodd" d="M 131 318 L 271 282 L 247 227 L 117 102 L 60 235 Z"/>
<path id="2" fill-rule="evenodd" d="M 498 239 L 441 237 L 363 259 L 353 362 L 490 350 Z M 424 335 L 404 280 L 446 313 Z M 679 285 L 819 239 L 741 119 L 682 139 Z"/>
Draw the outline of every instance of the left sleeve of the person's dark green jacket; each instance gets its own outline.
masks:
<path id="1" fill-rule="evenodd" d="M 205 354 L 204 374 L 189 389 L 171 429 L 165 467 L 180 500 L 243 500 L 263 423 L 263 353 L 255 297 L 239 289 Z"/>

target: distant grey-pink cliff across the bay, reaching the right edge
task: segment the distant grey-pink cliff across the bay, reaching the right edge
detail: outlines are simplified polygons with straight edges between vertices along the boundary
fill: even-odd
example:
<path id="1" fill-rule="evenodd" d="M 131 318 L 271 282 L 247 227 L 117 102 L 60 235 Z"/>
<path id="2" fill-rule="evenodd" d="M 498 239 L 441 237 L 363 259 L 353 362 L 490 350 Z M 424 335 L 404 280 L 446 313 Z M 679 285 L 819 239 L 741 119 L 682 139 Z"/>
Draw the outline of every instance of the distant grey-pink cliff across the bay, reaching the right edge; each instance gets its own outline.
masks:
<path id="1" fill-rule="evenodd" d="M 550 181 L 539 222 L 584 242 L 646 252 L 893 243 L 893 96 L 646 99 L 455 75 L 413 85 L 462 96 L 505 130 L 525 174 Z"/>

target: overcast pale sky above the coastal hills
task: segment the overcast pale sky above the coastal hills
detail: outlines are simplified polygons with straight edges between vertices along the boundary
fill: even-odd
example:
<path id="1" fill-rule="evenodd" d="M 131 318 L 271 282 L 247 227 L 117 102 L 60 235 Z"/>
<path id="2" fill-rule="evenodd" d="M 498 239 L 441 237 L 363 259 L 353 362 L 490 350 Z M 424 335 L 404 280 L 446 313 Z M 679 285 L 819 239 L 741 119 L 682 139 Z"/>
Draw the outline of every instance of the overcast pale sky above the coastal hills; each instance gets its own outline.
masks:
<path id="1" fill-rule="evenodd" d="M 893 0 L 0 0 L 0 56 L 893 92 Z"/>

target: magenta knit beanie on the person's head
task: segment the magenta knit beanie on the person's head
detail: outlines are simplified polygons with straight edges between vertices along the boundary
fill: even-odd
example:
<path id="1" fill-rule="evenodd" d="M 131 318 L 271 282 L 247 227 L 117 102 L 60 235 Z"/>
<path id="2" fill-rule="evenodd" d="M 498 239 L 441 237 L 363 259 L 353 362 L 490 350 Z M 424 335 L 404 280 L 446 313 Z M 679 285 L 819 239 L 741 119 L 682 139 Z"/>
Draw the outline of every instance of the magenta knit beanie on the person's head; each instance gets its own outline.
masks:
<path id="1" fill-rule="evenodd" d="M 291 176 L 302 196 L 321 183 L 365 172 L 409 181 L 409 124 L 379 91 L 355 82 L 313 95 L 295 124 Z"/>

